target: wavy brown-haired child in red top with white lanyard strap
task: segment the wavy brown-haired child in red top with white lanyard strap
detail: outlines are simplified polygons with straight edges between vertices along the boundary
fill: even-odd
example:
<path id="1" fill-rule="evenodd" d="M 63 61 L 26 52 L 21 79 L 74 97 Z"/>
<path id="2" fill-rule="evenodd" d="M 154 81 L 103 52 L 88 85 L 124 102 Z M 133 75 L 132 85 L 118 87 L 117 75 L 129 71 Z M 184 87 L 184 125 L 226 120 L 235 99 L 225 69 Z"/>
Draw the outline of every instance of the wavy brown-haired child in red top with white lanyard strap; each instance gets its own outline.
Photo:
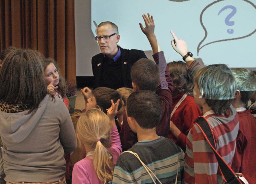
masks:
<path id="1" fill-rule="evenodd" d="M 186 151 L 186 138 L 193 122 L 202 115 L 192 94 L 193 79 L 188 74 L 186 63 L 173 61 L 167 64 L 173 82 L 172 113 L 169 139 Z"/>

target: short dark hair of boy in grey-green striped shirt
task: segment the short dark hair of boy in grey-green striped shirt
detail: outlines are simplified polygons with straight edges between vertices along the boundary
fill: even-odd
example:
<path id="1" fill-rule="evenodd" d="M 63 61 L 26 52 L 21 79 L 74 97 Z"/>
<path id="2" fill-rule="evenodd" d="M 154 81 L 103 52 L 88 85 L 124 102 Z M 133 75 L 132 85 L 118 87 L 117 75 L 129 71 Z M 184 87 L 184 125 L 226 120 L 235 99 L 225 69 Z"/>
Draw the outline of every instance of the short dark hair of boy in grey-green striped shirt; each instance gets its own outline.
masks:
<path id="1" fill-rule="evenodd" d="M 133 117 L 140 127 L 152 129 L 160 123 L 162 102 L 155 92 L 138 90 L 128 97 L 126 112 L 128 117 Z"/>

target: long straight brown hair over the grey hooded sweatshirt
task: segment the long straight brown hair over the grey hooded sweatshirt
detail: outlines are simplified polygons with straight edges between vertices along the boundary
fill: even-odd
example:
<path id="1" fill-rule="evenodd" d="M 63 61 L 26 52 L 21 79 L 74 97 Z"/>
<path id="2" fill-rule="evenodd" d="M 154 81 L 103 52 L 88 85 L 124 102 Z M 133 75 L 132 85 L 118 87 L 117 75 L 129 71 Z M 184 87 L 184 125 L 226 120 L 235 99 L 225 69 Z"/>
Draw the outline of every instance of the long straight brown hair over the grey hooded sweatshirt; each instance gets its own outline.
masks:
<path id="1" fill-rule="evenodd" d="M 30 49 L 10 52 L 0 72 L 0 100 L 7 104 L 28 104 L 29 113 L 47 94 L 42 54 Z"/>

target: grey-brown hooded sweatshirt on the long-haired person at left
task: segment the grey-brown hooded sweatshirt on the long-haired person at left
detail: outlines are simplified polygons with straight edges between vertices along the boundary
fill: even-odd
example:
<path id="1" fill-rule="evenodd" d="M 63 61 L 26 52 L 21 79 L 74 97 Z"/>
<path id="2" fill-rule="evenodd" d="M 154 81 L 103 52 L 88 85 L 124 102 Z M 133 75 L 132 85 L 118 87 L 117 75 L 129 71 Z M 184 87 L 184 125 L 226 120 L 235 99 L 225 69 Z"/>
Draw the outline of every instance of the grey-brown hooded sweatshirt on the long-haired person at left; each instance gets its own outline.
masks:
<path id="1" fill-rule="evenodd" d="M 8 182 L 52 182 L 65 175 L 64 154 L 76 149 L 76 134 L 60 98 L 46 95 L 39 108 L 0 111 L 2 160 Z M 1 158 L 0 158 L 1 159 Z"/>

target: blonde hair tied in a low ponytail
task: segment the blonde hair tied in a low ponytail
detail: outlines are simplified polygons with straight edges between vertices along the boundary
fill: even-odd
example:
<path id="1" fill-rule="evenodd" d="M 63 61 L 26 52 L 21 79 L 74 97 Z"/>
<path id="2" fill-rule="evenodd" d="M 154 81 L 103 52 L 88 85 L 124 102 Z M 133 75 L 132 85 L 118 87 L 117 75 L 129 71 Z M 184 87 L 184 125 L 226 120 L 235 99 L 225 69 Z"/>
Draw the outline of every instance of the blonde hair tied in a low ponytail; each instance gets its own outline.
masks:
<path id="1" fill-rule="evenodd" d="M 112 181 L 114 164 L 109 158 L 111 147 L 110 119 L 98 109 L 87 110 L 79 119 L 76 126 L 79 144 L 88 145 L 94 150 L 93 168 L 99 180 Z"/>

